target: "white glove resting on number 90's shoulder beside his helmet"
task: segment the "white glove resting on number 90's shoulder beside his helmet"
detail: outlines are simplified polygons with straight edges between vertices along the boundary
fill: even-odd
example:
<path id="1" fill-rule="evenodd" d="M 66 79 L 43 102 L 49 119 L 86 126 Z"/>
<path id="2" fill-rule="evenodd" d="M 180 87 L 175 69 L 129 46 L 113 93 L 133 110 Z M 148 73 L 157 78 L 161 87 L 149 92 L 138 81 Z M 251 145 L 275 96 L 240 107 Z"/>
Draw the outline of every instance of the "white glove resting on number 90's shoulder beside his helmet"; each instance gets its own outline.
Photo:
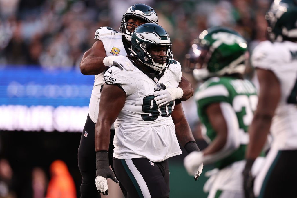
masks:
<path id="1" fill-rule="evenodd" d="M 121 70 L 123 70 L 123 67 L 127 71 L 134 70 L 134 65 L 126 56 L 106 56 L 103 58 L 103 64 L 107 67 L 110 65 L 117 65 Z"/>

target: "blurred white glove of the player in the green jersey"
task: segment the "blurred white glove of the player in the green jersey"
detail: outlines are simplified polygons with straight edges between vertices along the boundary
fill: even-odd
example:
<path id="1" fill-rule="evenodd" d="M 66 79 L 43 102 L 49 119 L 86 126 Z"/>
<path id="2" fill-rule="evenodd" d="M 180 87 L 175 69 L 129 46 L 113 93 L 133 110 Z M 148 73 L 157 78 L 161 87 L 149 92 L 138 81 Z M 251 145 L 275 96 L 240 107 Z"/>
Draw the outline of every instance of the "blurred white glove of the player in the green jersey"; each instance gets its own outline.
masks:
<path id="1" fill-rule="evenodd" d="M 203 153 L 199 151 L 193 151 L 184 158 L 184 167 L 189 175 L 195 175 L 198 173 L 198 177 L 203 168 Z"/>

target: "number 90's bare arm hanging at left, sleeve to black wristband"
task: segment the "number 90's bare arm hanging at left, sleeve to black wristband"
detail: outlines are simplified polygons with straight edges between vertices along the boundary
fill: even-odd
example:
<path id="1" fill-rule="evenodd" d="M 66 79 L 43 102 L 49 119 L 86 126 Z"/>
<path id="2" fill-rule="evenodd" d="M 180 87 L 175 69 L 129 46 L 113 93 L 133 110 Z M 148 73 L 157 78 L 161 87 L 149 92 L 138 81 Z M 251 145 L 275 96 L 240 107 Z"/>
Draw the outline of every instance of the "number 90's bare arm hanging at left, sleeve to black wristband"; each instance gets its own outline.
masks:
<path id="1" fill-rule="evenodd" d="M 95 126 L 95 149 L 108 151 L 110 126 L 116 121 L 124 107 L 126 93 L 117 85 L 103 85 L 99 104 L 99 114 Z"/>

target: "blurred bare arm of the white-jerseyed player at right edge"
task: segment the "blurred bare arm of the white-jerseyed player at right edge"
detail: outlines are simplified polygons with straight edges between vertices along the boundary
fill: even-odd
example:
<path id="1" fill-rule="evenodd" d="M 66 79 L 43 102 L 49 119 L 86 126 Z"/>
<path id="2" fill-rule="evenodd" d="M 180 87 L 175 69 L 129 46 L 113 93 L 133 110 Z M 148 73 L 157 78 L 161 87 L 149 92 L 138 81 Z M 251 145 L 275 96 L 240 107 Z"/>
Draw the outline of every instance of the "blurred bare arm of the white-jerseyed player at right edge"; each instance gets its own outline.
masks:
<path id="1" fill-rule="evenodd" d="M 281 96 L 277 77 L 270 70 L 256 69 L 260 85 L 257 110 L 249 126 L 249 145 L 246 158 L 255 160 L 270 131 L 271 121 Z"/>

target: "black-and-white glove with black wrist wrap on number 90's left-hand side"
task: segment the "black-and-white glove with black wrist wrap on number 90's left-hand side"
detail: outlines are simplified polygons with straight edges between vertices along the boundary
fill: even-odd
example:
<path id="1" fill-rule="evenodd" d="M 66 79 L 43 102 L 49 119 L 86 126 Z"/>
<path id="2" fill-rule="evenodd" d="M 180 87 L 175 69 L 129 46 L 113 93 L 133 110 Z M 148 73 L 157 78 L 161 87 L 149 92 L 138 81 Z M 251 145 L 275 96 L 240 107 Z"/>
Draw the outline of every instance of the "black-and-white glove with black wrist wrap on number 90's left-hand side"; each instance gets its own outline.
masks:
<path id="1" fill-rule="evenodd" d="M 108 152 L 96 152 L 96 187 L 97 190 L 104 195 L 108 195 L 107 178 L 112 179 L 115 183 L 119 183 L 112 170 L 109 168 Z"/>

